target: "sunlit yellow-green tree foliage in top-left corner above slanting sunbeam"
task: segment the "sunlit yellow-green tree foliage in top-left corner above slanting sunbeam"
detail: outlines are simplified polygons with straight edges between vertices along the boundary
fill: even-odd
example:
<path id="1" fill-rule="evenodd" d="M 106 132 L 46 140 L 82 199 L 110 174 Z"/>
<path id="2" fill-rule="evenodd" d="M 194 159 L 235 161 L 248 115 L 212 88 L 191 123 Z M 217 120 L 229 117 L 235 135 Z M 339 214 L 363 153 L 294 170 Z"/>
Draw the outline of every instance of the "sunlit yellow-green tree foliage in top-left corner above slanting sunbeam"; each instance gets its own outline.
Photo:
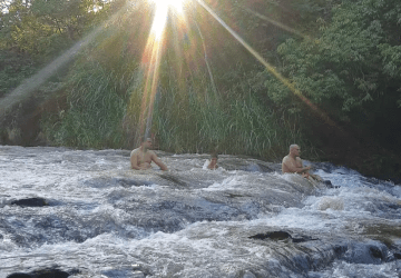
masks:
<path id="1" fill-rule="evenodd" d="M 105 18 L 110 6 L 101 0 L 14 0 L 7 4 L 8 12 L 0 14 L 0 96 L 80 39 Z M 59 77 L 65 70 L 59 70 Z"/>

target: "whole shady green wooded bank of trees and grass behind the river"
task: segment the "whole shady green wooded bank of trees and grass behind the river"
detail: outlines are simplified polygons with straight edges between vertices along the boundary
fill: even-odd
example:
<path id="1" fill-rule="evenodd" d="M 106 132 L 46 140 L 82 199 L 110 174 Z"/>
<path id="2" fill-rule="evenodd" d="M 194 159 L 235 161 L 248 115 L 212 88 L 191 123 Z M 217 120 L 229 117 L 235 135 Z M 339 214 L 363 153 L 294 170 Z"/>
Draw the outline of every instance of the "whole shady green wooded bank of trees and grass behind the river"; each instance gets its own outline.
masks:
<path id="1" fill-rule="evenodd" d="M 151 71 L 150 0 L 1 1 L 0 103 L 23 93 L 0 109 L 0 145 L 133 149 L 148 135 L 165 151 L 277 161 L 296 142 L 400 181 L 399 0 L 183 4 Z"/>

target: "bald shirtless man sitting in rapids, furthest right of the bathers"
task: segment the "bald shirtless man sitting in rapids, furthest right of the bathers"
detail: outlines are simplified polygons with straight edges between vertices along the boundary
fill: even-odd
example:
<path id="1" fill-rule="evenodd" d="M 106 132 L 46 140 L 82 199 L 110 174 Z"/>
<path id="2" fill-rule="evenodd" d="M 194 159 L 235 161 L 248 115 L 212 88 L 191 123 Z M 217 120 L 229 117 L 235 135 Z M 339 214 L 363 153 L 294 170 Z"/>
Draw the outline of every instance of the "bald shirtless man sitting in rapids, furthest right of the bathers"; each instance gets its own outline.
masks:
<path id="1" fill-rule="evenodd" d="M 309 170 L 311 170 L 311 166 L 303 167 L 302 159 L 300 158 L 300 152 L 301 148 L 297 145 L 290 146 L 290 153 L 283 158 L 282 171 L 301 173 L 304 178 L 313 178 L 317 181 L 323 182 L 323 179 L 320 176 L 309 172 Z"/>

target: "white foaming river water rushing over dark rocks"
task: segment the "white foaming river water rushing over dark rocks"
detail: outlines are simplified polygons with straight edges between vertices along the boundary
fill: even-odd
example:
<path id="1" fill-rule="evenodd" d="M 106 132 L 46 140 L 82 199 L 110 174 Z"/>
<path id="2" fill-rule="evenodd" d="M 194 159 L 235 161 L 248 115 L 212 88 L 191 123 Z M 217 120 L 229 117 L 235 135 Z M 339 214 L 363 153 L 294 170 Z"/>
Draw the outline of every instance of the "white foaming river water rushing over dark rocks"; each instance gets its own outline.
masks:
<path id="1" fill-rule="evenodd" d="M 169 171 L 130 170 L 129 150 L 0 146 L 0 278 L 401 277 L 400 185 L 158 155 Z"/>

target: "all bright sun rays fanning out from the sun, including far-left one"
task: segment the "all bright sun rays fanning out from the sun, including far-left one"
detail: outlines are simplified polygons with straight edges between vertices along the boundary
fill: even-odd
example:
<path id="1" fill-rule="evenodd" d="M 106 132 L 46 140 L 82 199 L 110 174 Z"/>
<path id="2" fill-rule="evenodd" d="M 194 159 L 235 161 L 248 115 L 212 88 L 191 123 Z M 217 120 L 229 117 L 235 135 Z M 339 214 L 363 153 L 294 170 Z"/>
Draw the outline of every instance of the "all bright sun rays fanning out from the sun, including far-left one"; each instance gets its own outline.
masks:
<path id="1" fill-rule="evenodd" d="M 183 90 L 185 89 L 187 77 L 196 72 L 196 69 L 200 68 L 199 64 L 203 62 L 205 69 L 207 69 L 211 85 L 216 91 L 216 85 L 212 73 L 211 66 L 208 63 L 209 58 L 206 54 L 207 38 L 202 34 L 203 27 L 208 24 L 207 17 L 204 17 L 202 22 L 197 22 L 197 17 L 194 16 L 196 10 L 205 10 L 207 14 L 214 18 L 228 33 L 239 42 L 264 68 L 283 85 L 285 85 L 295 96 L 304 101 L 311 109 L 317 111 L 317 113 L 325 119 L 330 125 L 334 125 L 330 118 L 314 106 L 300 90 L 296 89 L 296 85 L 283 77 L 273 66 L 271 66 L 263 56 L 251 47 L 238 32 L 234 31 L 217 13 L 203 0 L 147 0 L 147 4 L 150 6 L 153 11 L 153 21 L 150 24 L 150 31 L 146 42 L 144 52 L 141 53 L 141 73 L 143 73 L 143 95 L 141 105 L 139 112 L 139 122 L 136 122 L 138 128 L 137 133 L 140 136 L 149 136 L 149 129 L 151 126 L 151 118 L 154 111 L 154 101 L 156 93 L 159 88 L 160 78 L 160 62 L 163 61 L 166 47 L 166 34 L 167 29 L 170 27 L 170 40 L 173 41 L 174 49 L 172 52 L 176 56 L 174 59 L 174 70 L 176 70 L 177 82 Z M 215 2 L 214 4 L 218 4 Z M 136 4 L 136 9 L 139 9 L 139 4 Z M 118 11 L 121 13 L 129 10 L 126 7 Z M 252 12 L 254 16 L 287 31 L 293 34 L 300 36 L 306 39 L 306 36 L 297 32 L 294 29 L 286 27 L 283 23 L 276 22 L 268 17 L 265 17 L 256 11 L 244 7 L 244 11 Z M 133 12 L 134 16 L 134 12 Z M 115 14 L 114 17 L 117 17 Z M 208 17 L 208 18 L 211 18 Z M 108 20 L 107 22 L 110 22 Z M 233 20 L 235 22 L 235 20 Z M 106 23 L 107 23 L 106 22 Z M 149 21 L 150 22 L 150 21 Z M 200 26 L 200 28 L 199 28 Z M 67 51 L 63 56 L 60 56 L 52 63 L 46 67 L 42 71 L 38 72 L 31 79 L 22 82 L 16 90 L 10 92 L 0 101 L 0 115 L 6 112 L 6 109 L 12 107 L 22 98 L 30 95 L 35 88 L 46 82 L 62 64 L 70 61 L 75 53 L 77 53 L 84 46 L 87 46 L 95 39 L 95 37 L 101 32 L 102 27 L 99 27 L 90 36 L 85 38 L 82 41 L 77 43 L 74 48 Z M 148 29 L 147 29 L 148 30 Z M 141 39 L 141 38 L 136 38 Z M 216 38 L 218 40 L 219 38 Z M 203 53 L 202 53 L 203 52 Z M 236 59 L 233 57 L 232 59 Z M 212 60 L 212 59 L 211 59 Z M 185 68 L 187 67 L 187 68 Z M 184 69 L 183 69 L 184 68 Z"/>

